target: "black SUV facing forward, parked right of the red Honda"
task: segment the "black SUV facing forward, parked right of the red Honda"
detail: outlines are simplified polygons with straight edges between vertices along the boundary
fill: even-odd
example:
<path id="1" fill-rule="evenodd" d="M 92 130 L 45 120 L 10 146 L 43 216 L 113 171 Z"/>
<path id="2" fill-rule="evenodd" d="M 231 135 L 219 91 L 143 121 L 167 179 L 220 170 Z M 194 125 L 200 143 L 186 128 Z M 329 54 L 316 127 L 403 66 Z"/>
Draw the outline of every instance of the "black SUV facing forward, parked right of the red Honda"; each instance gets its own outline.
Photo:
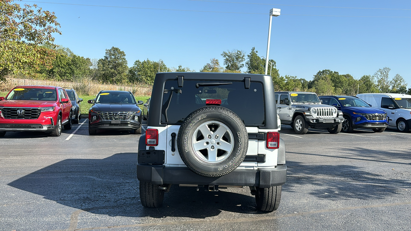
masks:
<path id="1" fill-rule="evenodd" d="M 93 106 L 88 111 L 88 133 L 95 135 L 97 129 L 132 130 L 141 134 L 141 109 L 134 95 L 129 91 L 100 91 L 95 99 L 90 99 Z"/>

